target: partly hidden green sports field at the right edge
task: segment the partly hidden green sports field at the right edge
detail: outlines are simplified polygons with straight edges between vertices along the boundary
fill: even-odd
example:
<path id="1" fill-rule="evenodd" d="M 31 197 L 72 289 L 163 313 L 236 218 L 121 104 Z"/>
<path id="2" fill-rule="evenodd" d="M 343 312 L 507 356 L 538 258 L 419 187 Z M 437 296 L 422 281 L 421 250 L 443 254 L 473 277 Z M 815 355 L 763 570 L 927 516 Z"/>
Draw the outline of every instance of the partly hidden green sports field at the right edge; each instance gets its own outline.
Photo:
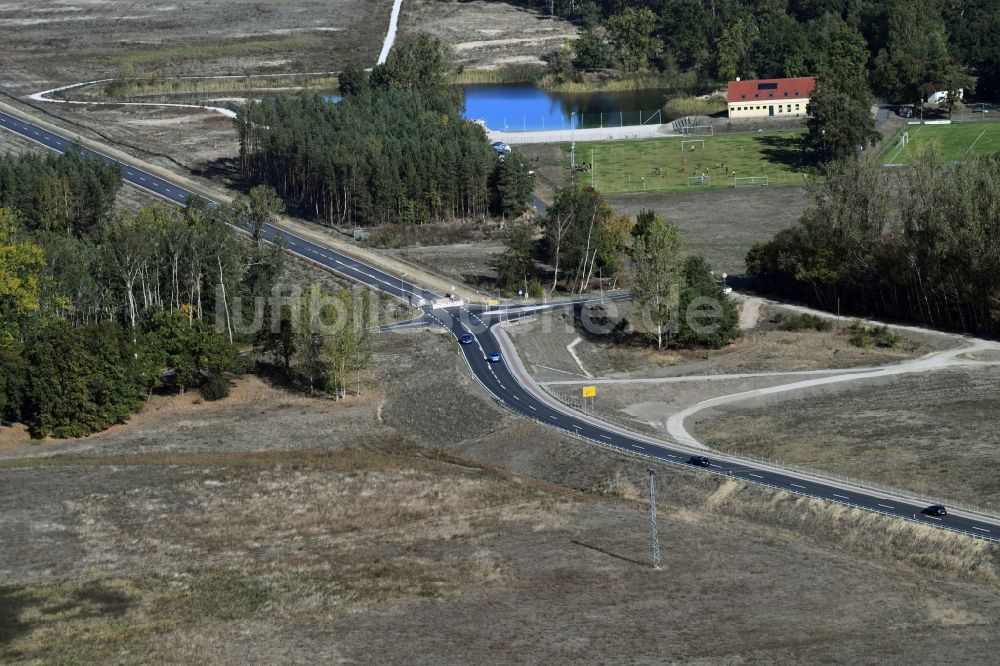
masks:
<path id="1" fill-rule="evenodd" d="M 1000 123 L 907 125 L 882 152 L 882 163 L 910 164 L 918 150 L 930 145 L 947 162 L 1000 153 Z"/>

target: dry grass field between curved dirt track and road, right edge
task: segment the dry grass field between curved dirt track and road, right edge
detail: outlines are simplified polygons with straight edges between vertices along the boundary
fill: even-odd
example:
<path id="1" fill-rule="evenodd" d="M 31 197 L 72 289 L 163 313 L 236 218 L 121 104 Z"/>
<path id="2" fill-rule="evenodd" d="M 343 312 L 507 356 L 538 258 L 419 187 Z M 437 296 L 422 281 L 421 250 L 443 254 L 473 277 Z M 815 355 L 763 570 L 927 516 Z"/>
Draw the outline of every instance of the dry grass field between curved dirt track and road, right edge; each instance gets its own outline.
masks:
<path id="1" fill-rule="evenodd" d="M 747 401 L 689 425 L 722 450 L 996 510 L 998 410 L 1000 371 L 948 370 Z"/>

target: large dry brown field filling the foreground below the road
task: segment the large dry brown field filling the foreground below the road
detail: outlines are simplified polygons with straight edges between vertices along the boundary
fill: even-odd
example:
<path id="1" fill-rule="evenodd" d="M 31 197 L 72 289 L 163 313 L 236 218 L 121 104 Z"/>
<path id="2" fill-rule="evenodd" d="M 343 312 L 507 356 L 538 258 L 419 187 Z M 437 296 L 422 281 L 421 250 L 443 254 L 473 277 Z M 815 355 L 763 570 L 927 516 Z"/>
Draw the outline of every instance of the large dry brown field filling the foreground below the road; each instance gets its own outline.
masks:
<path id="1" fill-rule="evenodd" d="M 982 542 L 665 467 L 652 572 L 643 461 L 507 415 L 443 336 L 387 336 L 378 367 L 344 403 L 250 380 L 222 403 L 164 399 L 114 431 L 4 454 L 0 660 L 1000 649 L 1000 555 Z"/>

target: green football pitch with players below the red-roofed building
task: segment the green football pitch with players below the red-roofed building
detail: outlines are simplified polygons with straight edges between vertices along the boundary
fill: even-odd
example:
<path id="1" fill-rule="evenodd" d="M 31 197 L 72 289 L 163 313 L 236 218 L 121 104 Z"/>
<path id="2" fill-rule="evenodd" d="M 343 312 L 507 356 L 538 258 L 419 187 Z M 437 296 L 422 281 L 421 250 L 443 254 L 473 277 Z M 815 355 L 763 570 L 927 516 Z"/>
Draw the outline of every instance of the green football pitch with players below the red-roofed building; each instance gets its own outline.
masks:
<path id="1" fill-rule="evenodd" d="M 578 177 L 606 194 L 801 183 L 812 164 L 802 137 L 796 131 L 577 143 L 576 163 L 591 165 Z"/>

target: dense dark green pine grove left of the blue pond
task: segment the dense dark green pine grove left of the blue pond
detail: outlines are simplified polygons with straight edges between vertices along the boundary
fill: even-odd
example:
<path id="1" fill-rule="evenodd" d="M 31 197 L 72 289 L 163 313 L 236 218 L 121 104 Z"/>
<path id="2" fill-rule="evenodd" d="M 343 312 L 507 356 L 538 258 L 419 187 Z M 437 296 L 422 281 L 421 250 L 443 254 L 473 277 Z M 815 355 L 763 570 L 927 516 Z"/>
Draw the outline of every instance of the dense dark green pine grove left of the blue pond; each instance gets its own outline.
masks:
<path id="1" fill-rule="evenodd" d="M 327 224 L 520 214 L 530 187 L 462 119 L 449 67 L 441 43 L 424 36 L 370 76 L 347 69 L 337 104 L 318 95 L 247 104 L 238 119 L 244 179 Z"/>

